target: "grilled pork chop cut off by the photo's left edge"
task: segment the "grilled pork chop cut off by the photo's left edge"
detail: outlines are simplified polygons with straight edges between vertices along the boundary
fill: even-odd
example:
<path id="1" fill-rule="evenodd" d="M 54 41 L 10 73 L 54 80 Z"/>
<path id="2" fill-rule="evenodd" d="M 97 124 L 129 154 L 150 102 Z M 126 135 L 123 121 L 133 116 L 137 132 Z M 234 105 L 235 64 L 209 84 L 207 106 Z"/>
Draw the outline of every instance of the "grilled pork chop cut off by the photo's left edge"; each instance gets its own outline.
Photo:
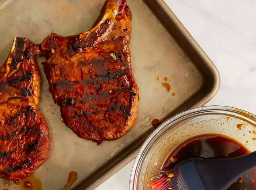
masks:
<path id="1" fill-rule="evenodd" d="M 49 132 L 37 109 L 40 76 L 34 61 L 39 47 L 14 38 L 0 67 L 0 177 L 19 181 L 48 159 Z"/>

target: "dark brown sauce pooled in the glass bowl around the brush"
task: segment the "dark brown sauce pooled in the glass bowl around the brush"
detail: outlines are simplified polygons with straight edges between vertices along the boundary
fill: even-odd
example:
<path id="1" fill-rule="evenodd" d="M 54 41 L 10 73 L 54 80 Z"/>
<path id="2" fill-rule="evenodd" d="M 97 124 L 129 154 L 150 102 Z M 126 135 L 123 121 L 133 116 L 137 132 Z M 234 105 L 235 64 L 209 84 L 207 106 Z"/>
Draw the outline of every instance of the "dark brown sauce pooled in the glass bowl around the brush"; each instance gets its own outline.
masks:
<path id="1" fill-rule="evenodd" d="M 236 140 L 226 136 L 207 134 L 192 137 L 175 148 L 164 164 L 164 169 L 172 169 L 178 163 L 193 158 L 233 158 L 250 151 Z M 256 169 L 242 175 L 228 190 L 255 190 L 252 179 L 256 179 Z"/>

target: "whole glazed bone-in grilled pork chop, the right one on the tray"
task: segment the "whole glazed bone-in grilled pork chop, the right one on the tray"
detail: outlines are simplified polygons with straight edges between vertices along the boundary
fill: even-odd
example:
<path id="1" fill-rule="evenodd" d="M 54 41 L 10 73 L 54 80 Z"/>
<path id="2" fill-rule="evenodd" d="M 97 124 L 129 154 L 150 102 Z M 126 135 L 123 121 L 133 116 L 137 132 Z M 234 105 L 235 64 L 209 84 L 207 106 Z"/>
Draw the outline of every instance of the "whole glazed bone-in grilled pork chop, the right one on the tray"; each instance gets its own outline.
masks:
<path id="1" fill-rule="evenodd" d="M 138 110 L 129 50 L 130 9 L 125 0 L 107 0 L 102 14 L 87 32 L 51 34 L 41 43 L 44 71 L 64 123 L 98 144 L 125 135 Z"/>

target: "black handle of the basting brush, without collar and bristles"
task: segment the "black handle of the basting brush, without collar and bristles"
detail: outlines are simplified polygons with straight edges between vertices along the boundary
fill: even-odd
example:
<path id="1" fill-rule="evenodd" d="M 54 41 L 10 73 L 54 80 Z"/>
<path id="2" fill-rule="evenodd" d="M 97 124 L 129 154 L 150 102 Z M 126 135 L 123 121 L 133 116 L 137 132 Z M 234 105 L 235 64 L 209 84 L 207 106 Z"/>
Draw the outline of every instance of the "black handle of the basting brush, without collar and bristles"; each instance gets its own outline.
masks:
<path id="1" fill-rule="evenodd" d="M 194 162 L 207 190 L 227 190 L 241 175 L 256 168 L 256 151 L 235 158 Z"/>

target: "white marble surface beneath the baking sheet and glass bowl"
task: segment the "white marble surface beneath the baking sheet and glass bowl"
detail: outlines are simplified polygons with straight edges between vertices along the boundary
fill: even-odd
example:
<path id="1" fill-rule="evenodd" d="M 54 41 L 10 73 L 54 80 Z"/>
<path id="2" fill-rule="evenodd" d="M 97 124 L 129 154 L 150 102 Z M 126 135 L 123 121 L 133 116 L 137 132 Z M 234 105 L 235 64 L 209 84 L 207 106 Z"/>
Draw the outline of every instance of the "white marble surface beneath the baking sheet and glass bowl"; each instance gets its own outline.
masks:
<path id="1" fill-rule="evenodd" d="M 256 0 L 165 0 L 217 66 L 221 87 L 207 105 L 256 114 Z M 132 163 L 97 190 L 128 190 Z"/>

